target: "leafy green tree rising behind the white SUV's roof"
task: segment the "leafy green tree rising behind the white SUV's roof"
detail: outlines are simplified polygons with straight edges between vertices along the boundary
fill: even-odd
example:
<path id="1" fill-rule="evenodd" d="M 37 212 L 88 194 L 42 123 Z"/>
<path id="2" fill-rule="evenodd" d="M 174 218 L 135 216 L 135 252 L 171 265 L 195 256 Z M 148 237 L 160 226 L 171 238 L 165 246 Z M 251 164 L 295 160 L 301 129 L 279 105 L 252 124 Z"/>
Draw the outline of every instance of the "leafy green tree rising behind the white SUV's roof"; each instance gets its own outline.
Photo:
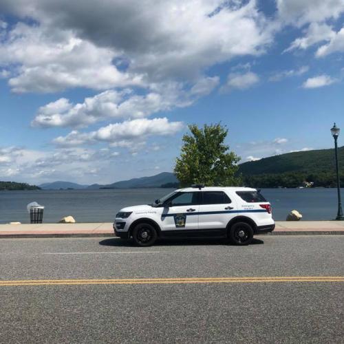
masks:
<path id="1" fill-rule="evenodd" d="M 204 183 L 207 186 L 237 186 L 241 177 L 236 175 L 239 156 L 224 144 L 226 126 L 189 125 L 191 133 L 183 136 L 184 145 L 175 162 L 174 173 L 181 186 Z"/>

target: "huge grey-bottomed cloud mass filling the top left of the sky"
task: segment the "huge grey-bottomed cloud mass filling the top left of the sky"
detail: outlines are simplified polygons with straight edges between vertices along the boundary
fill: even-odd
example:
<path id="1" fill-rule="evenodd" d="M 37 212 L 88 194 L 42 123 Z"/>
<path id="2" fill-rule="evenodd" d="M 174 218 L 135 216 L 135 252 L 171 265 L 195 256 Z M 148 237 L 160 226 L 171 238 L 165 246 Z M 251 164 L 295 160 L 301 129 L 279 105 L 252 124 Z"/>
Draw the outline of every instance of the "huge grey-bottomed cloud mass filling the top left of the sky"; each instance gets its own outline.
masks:
<path id="1" fill-rule="evenodd" d="M 0 42 L 14 92 L 195 83 L 208 67 L 257 56 L 273 30 L 255 0 L 3 0 L 19 22 Z"/>

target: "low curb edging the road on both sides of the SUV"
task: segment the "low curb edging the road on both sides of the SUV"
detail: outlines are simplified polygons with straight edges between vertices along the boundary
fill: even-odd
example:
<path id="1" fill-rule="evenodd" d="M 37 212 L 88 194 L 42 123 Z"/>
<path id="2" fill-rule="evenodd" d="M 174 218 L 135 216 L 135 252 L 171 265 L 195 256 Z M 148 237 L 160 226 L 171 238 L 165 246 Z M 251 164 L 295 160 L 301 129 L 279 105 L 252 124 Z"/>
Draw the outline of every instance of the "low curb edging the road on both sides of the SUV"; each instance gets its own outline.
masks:
<path id="1" fill-rule="evenodd" d="M 343 230 L 294 230 L 294 231 L 278 231 L 272 233 L 266 233 L 257 235 L 255 237 L 262 237 L 265 235 L 344 235 Z M 66 238 L 66 237 L 115 237 L 115 235 L 111 235 L 110 233 L 48 233 L 48 234 L 4 234 L 0 235 L 0 239 L 14 239 L 14 238 L 21 238 L 21 239 L 34 239 L 34 238 Z M 205 238 L 206 239 L 206 238 Z"/>

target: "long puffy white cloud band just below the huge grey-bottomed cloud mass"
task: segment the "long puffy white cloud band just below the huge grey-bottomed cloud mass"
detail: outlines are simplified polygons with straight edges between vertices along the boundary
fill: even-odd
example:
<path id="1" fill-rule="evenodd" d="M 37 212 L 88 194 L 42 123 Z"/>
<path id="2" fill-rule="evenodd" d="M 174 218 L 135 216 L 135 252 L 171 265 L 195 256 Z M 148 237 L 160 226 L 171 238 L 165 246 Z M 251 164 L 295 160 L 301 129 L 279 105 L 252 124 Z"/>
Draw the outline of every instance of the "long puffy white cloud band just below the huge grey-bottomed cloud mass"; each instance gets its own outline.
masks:
<path id="1" fill-rule="evenodd" d="M 132 89 L 109 89 L 83 103 L 72 104 L 66 98 L 41 107 L 32 120 L 33 127 L 87 127 L 106 119 L 142 118 L 175 107 L 186 107 L 197 98 L 209 94 L 219 78 L 201 78 L 189 89 L 178 83 L 152 85 L 152 89 L 138 95 Z"/>

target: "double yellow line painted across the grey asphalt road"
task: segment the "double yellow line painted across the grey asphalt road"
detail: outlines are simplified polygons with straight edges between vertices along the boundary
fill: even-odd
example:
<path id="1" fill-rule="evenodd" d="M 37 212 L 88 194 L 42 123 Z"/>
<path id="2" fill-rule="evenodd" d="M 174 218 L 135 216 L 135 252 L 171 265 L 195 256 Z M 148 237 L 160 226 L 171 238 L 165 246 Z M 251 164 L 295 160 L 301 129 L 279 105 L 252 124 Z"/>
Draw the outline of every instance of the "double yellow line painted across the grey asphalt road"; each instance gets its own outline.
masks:
<path id="1" fill-rule="evenodd" d="M 92 284 L 189 284 L 189 283 L 294 283 L 294 282 L 344 282 L 342 276 L 294 276 L 294 277 L 191 277 L 153 279 L 28 279 L 0 281 L 0 287 L 8 286 L 79 286 Z"/>

